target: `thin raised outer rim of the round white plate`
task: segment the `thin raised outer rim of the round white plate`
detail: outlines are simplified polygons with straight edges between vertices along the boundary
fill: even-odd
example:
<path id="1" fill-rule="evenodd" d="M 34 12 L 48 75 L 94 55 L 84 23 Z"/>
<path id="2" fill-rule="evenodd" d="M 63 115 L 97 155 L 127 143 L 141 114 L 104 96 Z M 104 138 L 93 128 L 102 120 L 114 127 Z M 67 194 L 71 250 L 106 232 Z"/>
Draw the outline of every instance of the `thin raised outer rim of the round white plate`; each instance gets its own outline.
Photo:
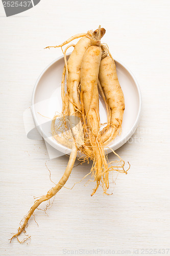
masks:
<path id="1" fill-rule="evenodd" d="M 67 56 L 69 56 L 71 53 L 68 53 Z M 58 58 L 56 58 L 55 60 L 53 60 L 49 65 L 46 66 L 46 68 L 40 73 L 36 83 L 35 83 L 35 86 L 34 86 L 34 89 L 33 89 L 33 93 L 32 93 L 32 106 L 31 106 L 31 111 L 32 111 L 32 115 L 33 115 L 33 120 L 34 120 L 34 123 L 35 123 L 35 126 L 36 126 L 36 129 L 38 130 L 38 132 L 40 133 L 40 135 L 42 136 L 42 138 L 45 140 L 45 142 L 47 142 L 48 144 L 50 144 L 52 147 L 54 147 L 56 150 L 64 153 L 64 154 L 70 154 L 71 153 L 71 149 L 58 143 L 56 140 L 55 142 L 53 143 L 52 140 L 46 138 L 46 136 L 44 135 L 43 133 L 43 130 L 41 129 L 41 125 L 39 125 L 38 123 L 38 120 L 36 118 L 36 113 L 35 113 L 35 109 L 34 109 L 34 105 L 35 105 L 35 93 L 36 93 L 36 89 L 37 89 L 37 86 L 38 86 L 38 83 L 41 79 L 41 77 L 43 76 L 43 74 L 52 66 L 54 65 L 54 63 L 56 63 L 57 61 L 63 59 L 64 56 L 60 56 Z M 117 62 L 119 65 L 123 66 L 127 71 L 128 73 L 131 75 L 131 77 L 133 78 L 134 80 L 134 83 L 135 83 L 135 86 L 137 88 L 137 93 L 138 93 L 138 96 L 139 96 L 139 109 L 138 109 L 138 113 L 137 113 L 137 117 L 135 119 L 135 122 L 132 126 L 132 129 L 131 131 L 129 131 L 129 133 L 127 135 L 125 135 L 122 140 L 120 140 L 119 142 L 117 142 L 115 145 L 114 145 L 114 151 L 117 150 L 119 147 L 123 146 L 131 137 L 132 135 L 135 133 L 136 129 L 137 129 L 137 126 L 138 126 L 138 123 L 139 123 L 139 120 L 140 120 L 140 115 L 141 115 L 141 108 L 142 108 L 142 98 L 141 98 L 141 91 L 140 91 L 140 88 L 139 88 L 139 84 L 135 78 L 135 76 L 133 75 L 132 71 L 122 62 L 122 61 L 119 61 L 118 59 L 114 58 L 114 61 Z M 110 146 L 110 148 L 112 148 Z M 110 153 L 112 152 L 110 150 L 110 148 L 108 147 L 105 147 L 105 151 L 107 153 Z"/>

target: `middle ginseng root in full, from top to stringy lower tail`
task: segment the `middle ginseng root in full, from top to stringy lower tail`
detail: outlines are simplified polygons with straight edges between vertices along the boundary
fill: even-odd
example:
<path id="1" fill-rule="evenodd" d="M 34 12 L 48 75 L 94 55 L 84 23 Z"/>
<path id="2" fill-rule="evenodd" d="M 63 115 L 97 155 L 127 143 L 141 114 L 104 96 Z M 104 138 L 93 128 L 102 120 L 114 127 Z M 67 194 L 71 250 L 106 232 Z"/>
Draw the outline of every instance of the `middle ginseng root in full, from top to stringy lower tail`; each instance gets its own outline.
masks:
<path id="1" fill-rule="evenodd" d="M 89 129 L 89 139 L 94 154 L 94 166 L 92 175 L 96 185 L 91 194 L 94 195 L 100 182 L 106 193 L 108 184 L 108 175 L 101 178 L 101 173 L 107 170 L 107 161 L 104 148 L 100 139 L 100 115 L 99 115 L 99 92 L 98 92 L 98 74 L 102 50 L 98 46 L 90 46 L 84 54 L 81 68 L 81 101 L 85 110 L 85 118 Z M 83 117 L 84 119 L 84 117 Z"/>

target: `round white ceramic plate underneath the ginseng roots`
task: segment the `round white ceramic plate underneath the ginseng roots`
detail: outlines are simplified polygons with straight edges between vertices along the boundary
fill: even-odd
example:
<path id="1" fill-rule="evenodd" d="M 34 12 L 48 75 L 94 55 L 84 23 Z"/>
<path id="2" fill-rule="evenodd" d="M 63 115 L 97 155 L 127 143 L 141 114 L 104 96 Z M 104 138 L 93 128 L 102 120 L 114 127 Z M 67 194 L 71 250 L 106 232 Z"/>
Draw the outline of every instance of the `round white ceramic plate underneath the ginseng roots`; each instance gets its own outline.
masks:
<path id="1" fill-rule="evenodd" d="M 136 79 L 131 71 L 118 60 L 115 60 L 117 76 L 125 96 L 125 112 L 122 124 L 122 133 L 108 146 L 113 150 L 125 144 L 135 132 L 140 112 L 141 94 Z M 40 135 L 47 143 L 64 154 L 71 150 L 59 144 L 51 136 L 51 120 L 55 112 L 61 113 L 61 76 L 64 67 L 63 56 L 54 60 L 39 76 L 32 97 L 32 113 L 35 125 Z M 106 109 L 103 99 L 100 97 L 101 123 L 107 121 Z M 109 153 L 111 150 L 106 148 Z"/>

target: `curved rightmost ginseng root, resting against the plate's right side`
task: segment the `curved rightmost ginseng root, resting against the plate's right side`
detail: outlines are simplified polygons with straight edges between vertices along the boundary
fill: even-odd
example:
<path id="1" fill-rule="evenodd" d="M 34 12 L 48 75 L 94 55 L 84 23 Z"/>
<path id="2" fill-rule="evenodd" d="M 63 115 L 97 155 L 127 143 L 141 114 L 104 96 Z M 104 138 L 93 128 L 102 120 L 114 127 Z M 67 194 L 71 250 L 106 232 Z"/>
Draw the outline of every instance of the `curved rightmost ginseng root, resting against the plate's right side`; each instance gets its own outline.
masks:
<path id="1" fill-rule="evenodd" d="M 110 124 L 101 132 L 102 141 L 107 145 L 121 129 L 125 110 L 124 94 L 117 78 L 115 63 L 109 55 L 101 60 L 99 80 L 111 110 Z"/>

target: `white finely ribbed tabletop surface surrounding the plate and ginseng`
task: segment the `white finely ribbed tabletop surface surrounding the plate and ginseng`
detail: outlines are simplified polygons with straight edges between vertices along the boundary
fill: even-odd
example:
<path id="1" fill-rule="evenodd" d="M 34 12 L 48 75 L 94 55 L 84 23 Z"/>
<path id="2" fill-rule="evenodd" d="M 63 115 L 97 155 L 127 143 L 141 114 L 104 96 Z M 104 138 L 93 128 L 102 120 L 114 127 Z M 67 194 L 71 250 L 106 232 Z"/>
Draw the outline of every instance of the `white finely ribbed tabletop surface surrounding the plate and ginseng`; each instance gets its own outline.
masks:
<path id="1" fill-rule="evenodd" d="M 170 248 L 169 14 L 168 0 L 41 0 L 11 17 L 0 3 L 1 255 L 64 255 L 63 249 L 96 248 L 103 249 L 98 255 L 105 255 L 104 250 L 125 255 L 138 248 Z M 130 68 L 142 93 L 138 129 L 116 151 L 130 162 L 129 173 L 119 174 L 116 185 L 111 184 L 112 196 L 103 196 L 99 189 L 90 197 L 94 183 L 84 186 L 85 181 L 72 190 L 63 188 L 47 210 L 49 217 L 36 211 L 39 227 L 33 218 L 29 221 L 31 241 L 20 245 L 14 239 L 9 244 L 33 196 L 46 194 L 54 185 L 45 162 L 57 182 L 68 161 L 67 156 L 49 160 L 44 142 L 29 140 L 23 125 L 39 74 L 62 55 L 60 49 L 43 48 L 99 24 L 106 29 L 104 40 L 113 57 Z M 67 186 L 89 170 L 87 164 L 75 167 Z"/>

